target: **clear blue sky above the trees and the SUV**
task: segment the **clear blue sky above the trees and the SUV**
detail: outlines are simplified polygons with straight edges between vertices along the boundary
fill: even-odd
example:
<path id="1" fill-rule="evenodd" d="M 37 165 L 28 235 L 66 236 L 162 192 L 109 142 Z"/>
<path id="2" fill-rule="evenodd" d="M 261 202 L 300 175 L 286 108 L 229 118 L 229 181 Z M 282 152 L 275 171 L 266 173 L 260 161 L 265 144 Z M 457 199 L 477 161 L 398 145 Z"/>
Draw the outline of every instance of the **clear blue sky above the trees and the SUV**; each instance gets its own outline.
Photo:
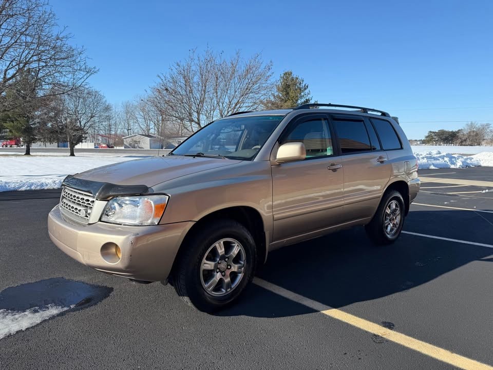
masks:
<path id="1" fill-rule="evenodd" d="M 409 138 L 469 120 L 493 124 L 489 0 L 50 4 L 100 68 L 90 83 L 112 104 L 143 94 L 158 73 L 208 45 L 261 52 L 275 76 L 293 70 L 319 102 L 387 110 Z"/>

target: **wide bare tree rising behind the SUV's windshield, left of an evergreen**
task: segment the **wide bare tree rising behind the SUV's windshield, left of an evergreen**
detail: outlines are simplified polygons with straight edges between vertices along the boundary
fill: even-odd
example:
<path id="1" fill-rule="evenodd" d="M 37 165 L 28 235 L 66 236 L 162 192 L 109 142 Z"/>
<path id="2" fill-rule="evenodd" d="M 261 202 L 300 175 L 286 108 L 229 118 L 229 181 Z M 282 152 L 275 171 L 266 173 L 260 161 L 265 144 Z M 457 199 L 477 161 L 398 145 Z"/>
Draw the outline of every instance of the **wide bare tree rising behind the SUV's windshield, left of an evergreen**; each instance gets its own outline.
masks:
<path id="1" fill-rule="evenodd" d="M 272 95 L 272 63 L 260 54 L 229 59 L 211 49 L 192 50 L 151 88 L 151 103 L 172 124 L 193 132 L 215 119 L 240 110 L 255 110 Z"/>

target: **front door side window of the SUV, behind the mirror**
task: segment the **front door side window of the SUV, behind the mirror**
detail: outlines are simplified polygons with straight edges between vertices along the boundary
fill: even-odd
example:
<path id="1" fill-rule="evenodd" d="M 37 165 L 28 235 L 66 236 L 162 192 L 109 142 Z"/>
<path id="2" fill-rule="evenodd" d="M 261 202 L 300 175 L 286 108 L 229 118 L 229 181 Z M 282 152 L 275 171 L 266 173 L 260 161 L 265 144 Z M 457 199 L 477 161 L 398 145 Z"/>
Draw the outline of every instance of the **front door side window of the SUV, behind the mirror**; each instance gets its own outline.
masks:
<path id="1" fill-rule="evenodd" d="M 328 156 L 334 153 L 329 124 L 324 118 L 307 119 L 290 127 L 279 144 L 302 142 L 307 150 L 307 158 Z"/>

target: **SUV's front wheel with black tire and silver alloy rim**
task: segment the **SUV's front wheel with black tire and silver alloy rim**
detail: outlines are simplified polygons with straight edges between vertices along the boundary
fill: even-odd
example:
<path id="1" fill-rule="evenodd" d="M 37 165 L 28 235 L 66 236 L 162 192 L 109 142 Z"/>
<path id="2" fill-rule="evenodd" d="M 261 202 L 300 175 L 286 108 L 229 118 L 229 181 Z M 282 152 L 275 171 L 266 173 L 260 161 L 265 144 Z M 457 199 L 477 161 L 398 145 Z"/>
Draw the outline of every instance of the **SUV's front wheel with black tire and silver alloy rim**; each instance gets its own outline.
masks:
<path id="1" fill-rule="evenodd" d="M 257 263 L 255 242 L 247 228 L 236 221 L 205 224 L 187 237 L 181 248 L 184 249 L 173 272 L 173 285 L 186 304 L 200 311 L 212 313 L 230 305 L 253 279 Z"/>

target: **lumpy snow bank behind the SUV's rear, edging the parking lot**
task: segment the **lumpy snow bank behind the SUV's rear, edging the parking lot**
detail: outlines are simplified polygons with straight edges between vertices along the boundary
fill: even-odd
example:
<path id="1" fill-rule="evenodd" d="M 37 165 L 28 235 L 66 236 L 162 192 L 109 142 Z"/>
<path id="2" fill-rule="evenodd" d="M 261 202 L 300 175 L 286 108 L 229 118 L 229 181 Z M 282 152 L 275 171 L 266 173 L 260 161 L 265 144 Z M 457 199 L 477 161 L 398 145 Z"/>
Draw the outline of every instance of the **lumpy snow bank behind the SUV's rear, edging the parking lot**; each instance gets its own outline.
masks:
<path id="1" fill-rule="evenodd" d="M 492 166 L 493 152 L 483 152 L 473 156 L 430 151 L 414 153 L 420 164 L 420 169 L 464 168 L 475 166 Z"/>

